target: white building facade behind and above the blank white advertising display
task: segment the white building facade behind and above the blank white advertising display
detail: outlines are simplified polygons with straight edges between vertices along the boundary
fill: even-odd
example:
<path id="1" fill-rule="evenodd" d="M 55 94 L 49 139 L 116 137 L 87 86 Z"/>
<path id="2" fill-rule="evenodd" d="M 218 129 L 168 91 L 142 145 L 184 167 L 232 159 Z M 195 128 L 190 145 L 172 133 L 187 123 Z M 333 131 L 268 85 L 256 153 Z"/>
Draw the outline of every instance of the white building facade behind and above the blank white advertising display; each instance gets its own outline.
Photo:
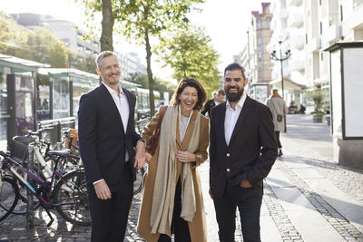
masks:
<path id="1" fill-rule="evenodd" d="M 329 109 L 329 53 L 336 42 L 363 40 L 363 0 L 305 0 L 305 72 L 307 92 L 323 93 Z"/>

